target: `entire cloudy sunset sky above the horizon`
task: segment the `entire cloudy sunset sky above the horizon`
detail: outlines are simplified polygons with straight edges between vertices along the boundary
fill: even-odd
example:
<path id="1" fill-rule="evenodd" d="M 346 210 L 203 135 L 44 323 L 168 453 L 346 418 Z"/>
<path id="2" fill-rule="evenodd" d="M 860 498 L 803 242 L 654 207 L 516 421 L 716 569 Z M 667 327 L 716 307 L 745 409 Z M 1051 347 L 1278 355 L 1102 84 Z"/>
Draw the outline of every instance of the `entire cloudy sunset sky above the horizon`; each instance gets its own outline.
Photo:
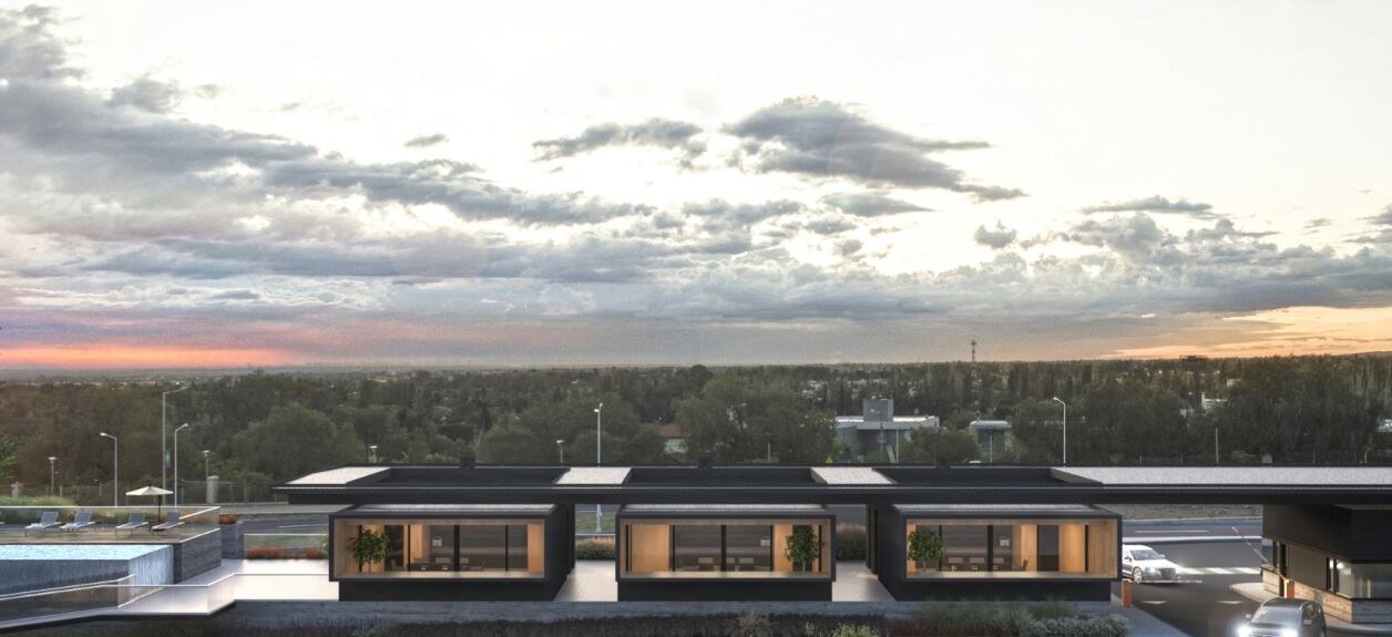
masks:
<path id="1" fill-rule="evenodd" d="M 0 0 L 0 369 L 1392 350 L 1389 24 Z"/>

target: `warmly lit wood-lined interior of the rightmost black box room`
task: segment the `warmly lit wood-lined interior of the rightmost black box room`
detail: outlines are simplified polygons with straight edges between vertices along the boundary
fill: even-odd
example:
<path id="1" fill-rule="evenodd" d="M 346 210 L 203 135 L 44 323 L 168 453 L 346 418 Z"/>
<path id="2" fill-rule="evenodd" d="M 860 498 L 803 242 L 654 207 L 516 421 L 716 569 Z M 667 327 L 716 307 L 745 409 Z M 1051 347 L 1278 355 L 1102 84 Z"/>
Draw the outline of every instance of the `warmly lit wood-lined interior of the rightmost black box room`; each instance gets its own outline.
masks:
<path id="1" fill-rule="evenodd" d="M 905 529 L 906 548 L 916 530 L 938 535 L 942 556 L 937 562 L 916 562 L 909 556 L 909 577 L 1115 579 L 1118 573 L 1114 519 L 910 519 Z"/>

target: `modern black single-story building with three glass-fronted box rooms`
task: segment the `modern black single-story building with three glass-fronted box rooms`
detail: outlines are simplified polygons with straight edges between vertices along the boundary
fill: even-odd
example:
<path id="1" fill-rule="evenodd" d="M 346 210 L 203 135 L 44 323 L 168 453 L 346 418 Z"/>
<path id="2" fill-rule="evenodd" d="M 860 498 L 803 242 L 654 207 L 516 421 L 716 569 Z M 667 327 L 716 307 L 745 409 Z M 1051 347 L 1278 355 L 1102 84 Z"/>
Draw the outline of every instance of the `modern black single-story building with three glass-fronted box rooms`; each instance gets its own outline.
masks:
<path id="1" fill-rule="evenodd" d="M 866 506 L 866 563 L 898 599 L 1107 599 L 1122 535 L 1107 505 L 1244 503 L 1265 505 L 1278 592 L 1340 619 L 1388 620 L 1392 604 L 1392 467 L 366 465 L 274 491 L 349 506 L 330 547 L 345 599 L 548 599 L 574 566 L 576 503 L 621 506 L 619 599 L 830 599 L 827 505 Z M 359 565 L 367 530 L 387 555 Z M 915 559 L 916 534 L 941 554 Z"/>

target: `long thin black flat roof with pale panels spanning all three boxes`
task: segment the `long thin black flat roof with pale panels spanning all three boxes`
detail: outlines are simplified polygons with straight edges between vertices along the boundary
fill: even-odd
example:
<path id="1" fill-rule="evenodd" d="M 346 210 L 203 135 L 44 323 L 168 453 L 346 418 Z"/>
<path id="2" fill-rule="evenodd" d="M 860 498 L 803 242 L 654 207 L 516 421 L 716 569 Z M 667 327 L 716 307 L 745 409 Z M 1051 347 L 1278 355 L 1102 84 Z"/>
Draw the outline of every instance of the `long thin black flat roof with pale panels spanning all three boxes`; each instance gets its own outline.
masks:
<path id="1" fill-rule="evenodd" d="M 970 465 L 348 466 L 277 483 L 294 503 L 1392 503 L 1392 467 Z"/>

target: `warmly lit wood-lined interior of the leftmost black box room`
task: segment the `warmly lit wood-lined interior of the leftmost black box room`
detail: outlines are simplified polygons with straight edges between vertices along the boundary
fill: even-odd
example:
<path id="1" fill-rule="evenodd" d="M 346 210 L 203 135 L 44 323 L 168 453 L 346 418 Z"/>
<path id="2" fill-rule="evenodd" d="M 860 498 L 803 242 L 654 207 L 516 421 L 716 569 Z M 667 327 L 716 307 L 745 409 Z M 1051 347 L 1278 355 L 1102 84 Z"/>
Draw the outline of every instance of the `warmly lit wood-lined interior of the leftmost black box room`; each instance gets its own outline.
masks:
<path id="1" fill-rule="evenodd" d="M 540 579 L 546 572 L 544 523 L 536 519 L 338 519 L 334 576 L 338 579 Z M 387 558 L 359 563 L 352 541 L 383 534 Z"/>

